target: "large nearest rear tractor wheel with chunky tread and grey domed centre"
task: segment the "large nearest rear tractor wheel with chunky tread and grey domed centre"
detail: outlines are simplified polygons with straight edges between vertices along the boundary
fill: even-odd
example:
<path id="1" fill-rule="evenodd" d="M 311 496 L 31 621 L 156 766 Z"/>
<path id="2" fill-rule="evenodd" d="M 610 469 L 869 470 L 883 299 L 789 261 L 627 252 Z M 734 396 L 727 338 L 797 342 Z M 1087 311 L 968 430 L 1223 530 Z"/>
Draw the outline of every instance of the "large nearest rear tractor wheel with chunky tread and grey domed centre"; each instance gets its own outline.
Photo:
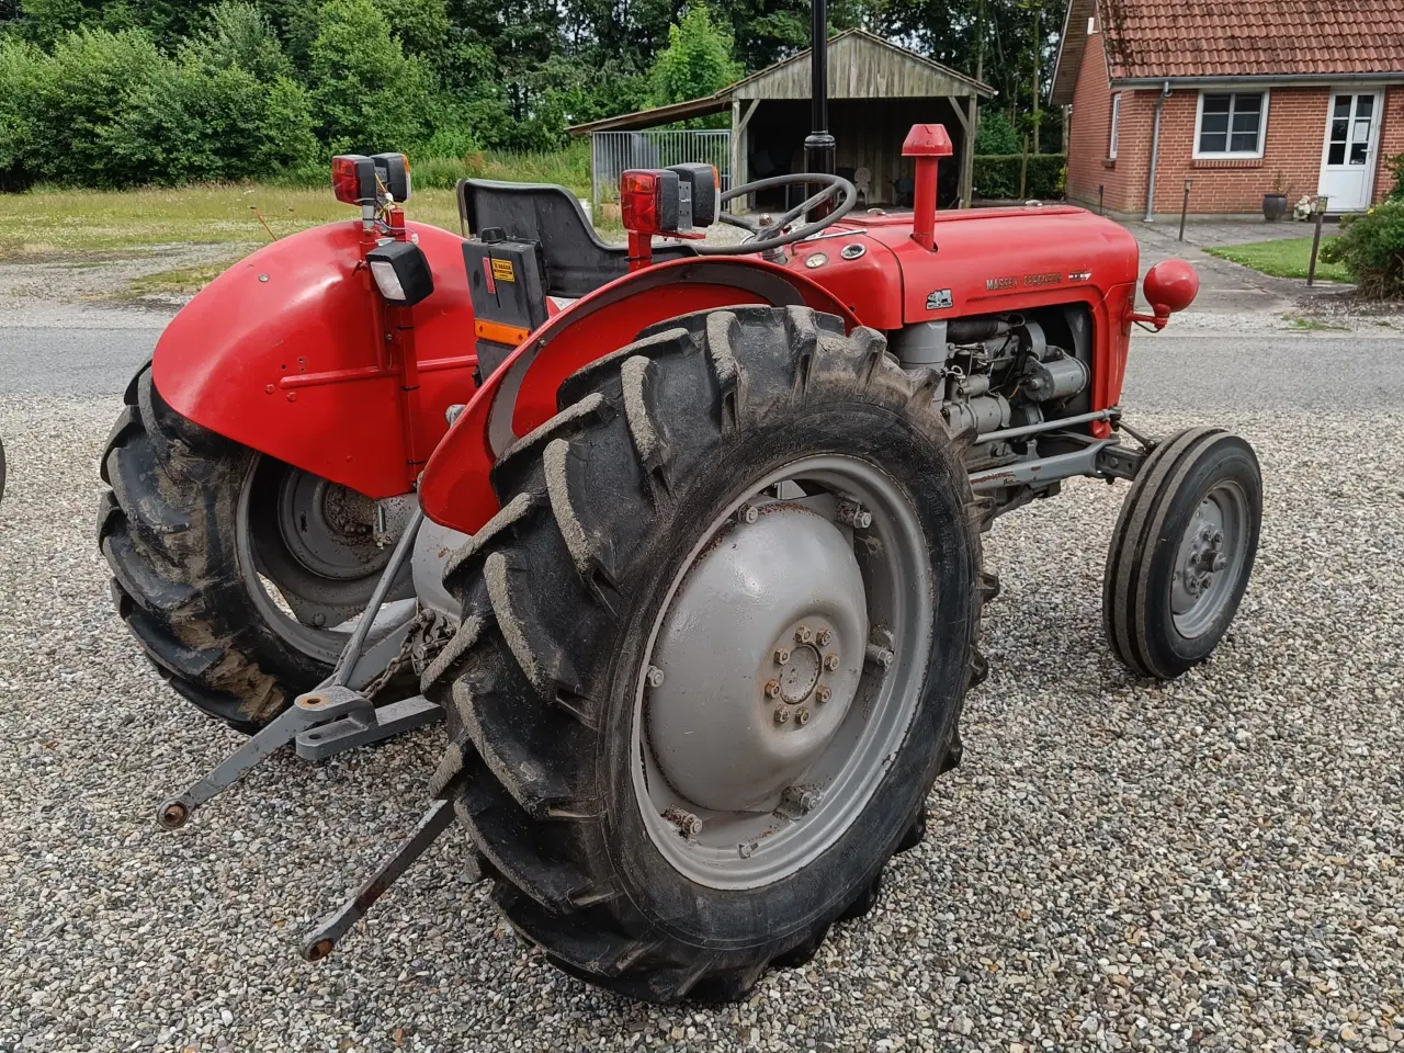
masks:
<path id="1" fill-rule="evenodd" d="M 494 466 L 424 674 L 432 789 L 563 970 L 741 997 L 920 838 L 983 670 L 984 508 L 885 347 L 803 307 L 684 316 Z"/>

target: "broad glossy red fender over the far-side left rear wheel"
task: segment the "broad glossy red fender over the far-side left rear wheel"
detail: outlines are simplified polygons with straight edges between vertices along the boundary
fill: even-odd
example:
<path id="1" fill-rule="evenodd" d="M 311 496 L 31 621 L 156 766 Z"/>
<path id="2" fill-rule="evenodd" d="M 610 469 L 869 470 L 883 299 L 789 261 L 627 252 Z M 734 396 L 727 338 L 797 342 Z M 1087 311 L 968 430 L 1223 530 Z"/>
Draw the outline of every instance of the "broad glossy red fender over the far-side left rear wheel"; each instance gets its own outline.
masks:
<path id="1" fill-rule="evenodd" d="M 434 272 L 413 343 L 388 324 L 361 220 L 274 241 L 225 271 L 166 327 L 152 379 L 181 416 L 369 497 L 409 493 L 466 403 L 477 366 L 463 239 L 409 223 Z M 399 352 L 414 348 L 418 390 Z M 413 409 L 417 399 L 417 411 Z M 411 448 L 413 446 L 413 448 Z"/>

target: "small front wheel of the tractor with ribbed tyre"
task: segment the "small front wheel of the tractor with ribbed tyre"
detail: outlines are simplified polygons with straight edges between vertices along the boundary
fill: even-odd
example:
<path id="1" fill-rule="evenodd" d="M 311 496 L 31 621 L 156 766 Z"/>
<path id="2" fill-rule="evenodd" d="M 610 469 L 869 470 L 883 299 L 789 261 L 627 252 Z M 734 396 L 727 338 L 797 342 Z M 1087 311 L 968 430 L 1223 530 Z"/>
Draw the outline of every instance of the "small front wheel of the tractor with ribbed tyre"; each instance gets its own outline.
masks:
<path id="1" fill-rule="evenodd" d="M 1221 428 L 1181 431 L 1141 465 L 1106 556 L 1102 615 L 1133 673 L 1171 680 L 1223 640 L 1248 588 L 1262 472 Z"/>

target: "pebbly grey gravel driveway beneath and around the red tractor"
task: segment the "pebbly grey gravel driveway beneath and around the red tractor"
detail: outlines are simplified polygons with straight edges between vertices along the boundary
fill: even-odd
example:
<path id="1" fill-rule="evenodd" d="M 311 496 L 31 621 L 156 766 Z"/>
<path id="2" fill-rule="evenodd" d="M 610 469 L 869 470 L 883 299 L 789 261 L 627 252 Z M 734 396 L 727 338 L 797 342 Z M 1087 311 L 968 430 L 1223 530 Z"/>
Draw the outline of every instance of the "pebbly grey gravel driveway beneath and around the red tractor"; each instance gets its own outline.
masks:
<path id="1" fill-rule="evenodd" d="M 438 729 L 278 755 L 157 831 L 239 740 L 112 616 L 93 517 L 118 396 L 0 393 L 0 1050 L 1404 1049 L 1404 340 L 1137 336 L 1130 373 L 1141 427 L 1230 423 L 1262 458 L 1227 643 L 1170 685 L 1109 654 L 1125 487 L 1000 522 L 993 673 L 925 844 L 804 969 L 671 1009 L 524 948 L 456 830 L 298 958 L 420 814 Z"/>

